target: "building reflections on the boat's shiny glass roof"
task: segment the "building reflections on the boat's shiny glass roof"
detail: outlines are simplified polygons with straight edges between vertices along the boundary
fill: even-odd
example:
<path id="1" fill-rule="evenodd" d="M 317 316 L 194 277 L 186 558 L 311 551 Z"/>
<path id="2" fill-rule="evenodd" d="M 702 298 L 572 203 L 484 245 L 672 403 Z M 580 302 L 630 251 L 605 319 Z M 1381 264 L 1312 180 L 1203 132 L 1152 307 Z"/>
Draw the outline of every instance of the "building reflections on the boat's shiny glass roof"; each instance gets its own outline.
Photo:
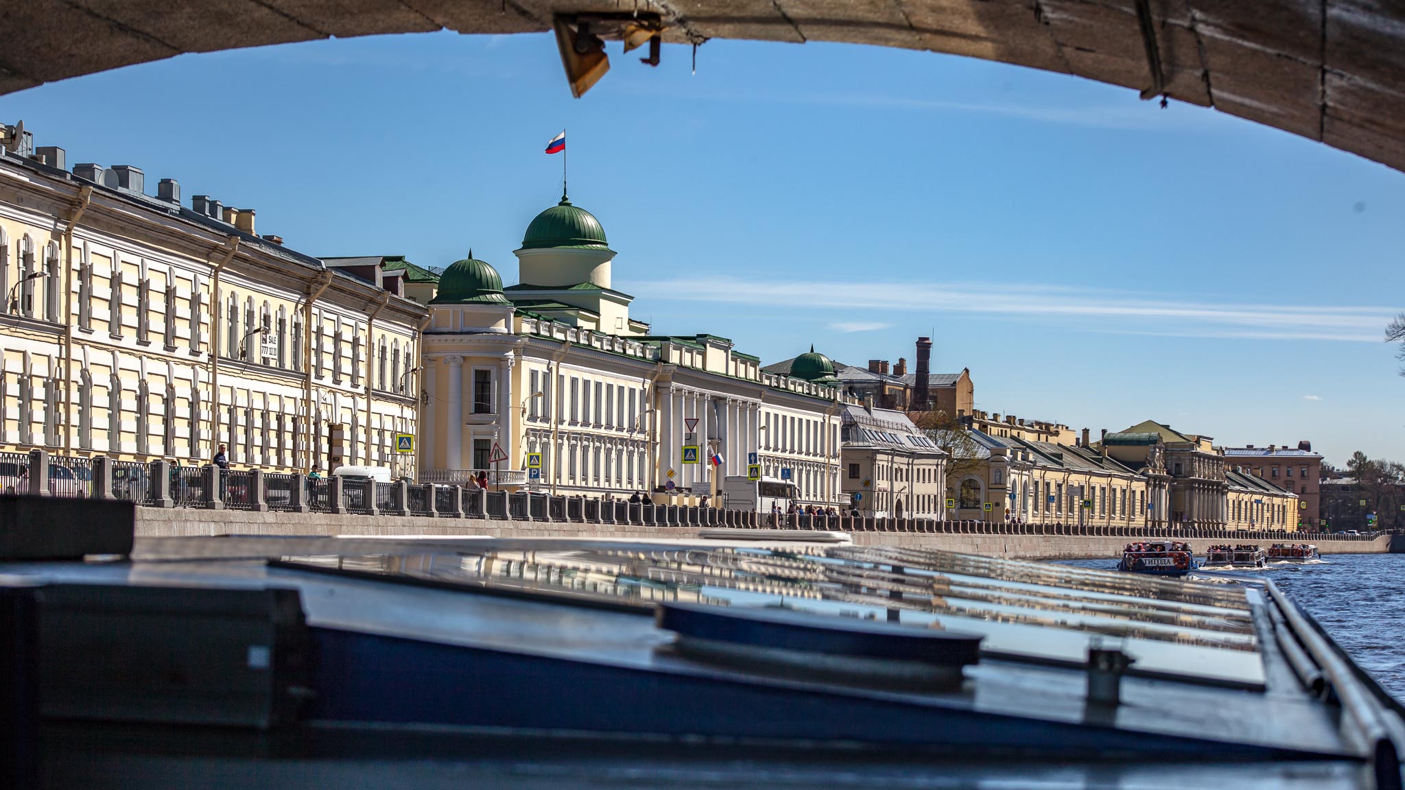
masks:
<path id="1" fill-rule="evenodd" d="M 288 557 L 403 581 L 652 610 L 783 606 L 985 637 L 1014 659 L 1080 663 L 1097 640 L 1132 672 L 1257 686 L 1245 590 L 1068 565 L 895 547 L 465 545 L 441 554 Z"/>

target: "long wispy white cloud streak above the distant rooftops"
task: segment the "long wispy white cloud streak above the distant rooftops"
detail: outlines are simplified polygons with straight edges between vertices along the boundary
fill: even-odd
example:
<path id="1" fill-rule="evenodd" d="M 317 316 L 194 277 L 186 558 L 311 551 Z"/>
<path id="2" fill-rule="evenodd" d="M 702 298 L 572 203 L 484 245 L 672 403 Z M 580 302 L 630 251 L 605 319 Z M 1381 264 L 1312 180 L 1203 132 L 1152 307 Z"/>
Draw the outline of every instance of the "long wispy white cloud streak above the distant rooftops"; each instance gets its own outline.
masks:
<path id="1" fill-rule="evenodd" d="M 885 309 L 985 313 L 1045 319 L 1092 332 L 1168 337 L 1248 340 L 1338 340 L 1380 343 L 1394 308 L 1360 305 L 1273 305 L 1190 301 L 1066 285 L 1005 283 L 823 283 L 724 278 L 697 291 L 684 281 L 652 280 L 634 287 L 641 297 L 700 302 L 805 305 L 806 309 Z M 836 329 L 840 325 L 835 325 Z"/>

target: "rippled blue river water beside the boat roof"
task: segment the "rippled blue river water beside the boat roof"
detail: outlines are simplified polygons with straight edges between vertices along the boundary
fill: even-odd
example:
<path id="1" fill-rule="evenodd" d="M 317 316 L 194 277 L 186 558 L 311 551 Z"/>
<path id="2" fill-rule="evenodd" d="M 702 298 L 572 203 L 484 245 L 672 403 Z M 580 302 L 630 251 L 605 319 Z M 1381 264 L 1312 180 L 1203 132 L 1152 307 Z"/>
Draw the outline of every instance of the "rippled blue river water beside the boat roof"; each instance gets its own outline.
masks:
<path id="1" fill-rule="evenodd" d="M 1116 559 L 1079 559 L 1116 568 Z M 1397 700 L 1405 700 L 1405 554 L 1326 554 L 1322 562 L 1270 565 L 1279 589 L 1316 617 L 1332 638 Z"/>

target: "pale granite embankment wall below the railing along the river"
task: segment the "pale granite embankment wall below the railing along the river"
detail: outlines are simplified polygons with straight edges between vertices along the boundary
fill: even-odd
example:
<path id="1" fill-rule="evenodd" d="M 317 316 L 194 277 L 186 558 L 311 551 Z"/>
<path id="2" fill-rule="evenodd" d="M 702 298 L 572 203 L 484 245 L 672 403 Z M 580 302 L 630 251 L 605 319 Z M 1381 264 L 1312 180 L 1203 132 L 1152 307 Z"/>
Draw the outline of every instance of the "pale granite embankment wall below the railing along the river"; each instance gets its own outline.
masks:
<path id="1" fill-rule="evenodd" d="M 618 537 L 618 538 L 691 538 L 698 527 L 643 527 L 629 524 L 577 524 L 566 522 L 503 522 L 482 519 L 426 519 L 416 516 L 355 516 L 330 513 L 275 513 L 250 510 L 136 509 L 139 537 L 178 536 L 486 536 L 486 537 Z M 798 530 L 797 537 L 804 537 Z M 1079 559 L 1118 557 L 1127 537 L 1109 536 L 1031 536 L 1031 534 L 944 534 L 944 533 L 851 533 L 857 545 L 902 545 L 941 548 L 984 557 L 1012 559 Z M 1190 538 L 1196 552 L 1204 554 L 1222 538 Z M 1259 541 L 1267 545 L 1270 541 Z M 1371 541 L 1316 540 L 1324 554 L 1383 554 L 1391 537 Z"/>

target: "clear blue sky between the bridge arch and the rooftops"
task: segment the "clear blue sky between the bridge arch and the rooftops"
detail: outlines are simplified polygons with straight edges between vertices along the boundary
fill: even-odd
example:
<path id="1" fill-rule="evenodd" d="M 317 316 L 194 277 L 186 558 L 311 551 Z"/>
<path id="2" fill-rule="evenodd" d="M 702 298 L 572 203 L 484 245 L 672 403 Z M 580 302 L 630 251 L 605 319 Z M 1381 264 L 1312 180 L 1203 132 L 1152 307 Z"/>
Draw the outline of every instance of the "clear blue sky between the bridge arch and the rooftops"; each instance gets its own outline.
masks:
<path id="1" fill-rule="evenodd" d="M 545 35 L 181 56 L 0 97 L 38 145 L 256 208 L 319 256 L 511 250 L 561 191 L 658 332 L 767 363 L 969 367 L 978 408 L 1096 434 L 1401 458 L 1381 328 L 1405 176 L 1238 118 L 999 63 L 832 44 L 667 46 L 572 100 Z"/>

